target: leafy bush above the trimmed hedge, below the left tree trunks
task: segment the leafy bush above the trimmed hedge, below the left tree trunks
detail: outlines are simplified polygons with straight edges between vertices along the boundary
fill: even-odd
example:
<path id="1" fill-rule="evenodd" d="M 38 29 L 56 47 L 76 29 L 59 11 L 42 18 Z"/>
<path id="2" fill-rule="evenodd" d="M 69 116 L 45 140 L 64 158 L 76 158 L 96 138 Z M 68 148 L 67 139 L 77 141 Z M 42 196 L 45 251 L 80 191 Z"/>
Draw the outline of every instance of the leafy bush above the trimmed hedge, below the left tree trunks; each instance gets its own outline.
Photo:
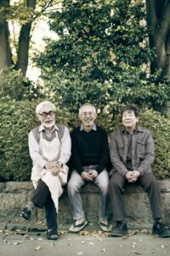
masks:
<path id="1" fill-rule="evenodd" d="M 37 88 L 27 79 L 20 70 L 6 67 L 0 70 L 0 98 L 20 101 L 22 99 L 34 99 L 40 96 L 40 88 Z"/>

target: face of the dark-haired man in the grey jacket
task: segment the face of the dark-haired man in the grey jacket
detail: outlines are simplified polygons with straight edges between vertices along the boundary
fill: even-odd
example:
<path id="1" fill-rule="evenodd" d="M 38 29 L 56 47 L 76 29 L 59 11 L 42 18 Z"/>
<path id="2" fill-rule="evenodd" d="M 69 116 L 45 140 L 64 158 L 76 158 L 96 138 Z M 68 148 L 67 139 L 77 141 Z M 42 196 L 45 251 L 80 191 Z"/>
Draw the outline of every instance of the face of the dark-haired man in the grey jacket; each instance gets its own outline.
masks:
<path id="1" fill-rule="evenodd" d="M 124 125 L 127 131 L 134 131 L 138 121 L 139 118 L 135 116 L 133 110 L 126 110 L 122 113 L 122 125 Z"/>

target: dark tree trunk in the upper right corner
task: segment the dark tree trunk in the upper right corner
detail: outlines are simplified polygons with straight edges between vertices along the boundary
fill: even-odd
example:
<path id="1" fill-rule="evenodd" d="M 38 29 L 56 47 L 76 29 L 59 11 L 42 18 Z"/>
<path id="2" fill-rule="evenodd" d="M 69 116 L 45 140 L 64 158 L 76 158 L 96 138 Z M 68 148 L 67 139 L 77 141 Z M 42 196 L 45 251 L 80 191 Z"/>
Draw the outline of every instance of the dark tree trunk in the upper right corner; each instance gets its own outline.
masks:
<path id="1" fill-rule="evenodd" d="M 146 20 L 150 49 L 156 50 L 150 72 L 161 70 L 170 79 L 170 0 L 146 0 Z"/>

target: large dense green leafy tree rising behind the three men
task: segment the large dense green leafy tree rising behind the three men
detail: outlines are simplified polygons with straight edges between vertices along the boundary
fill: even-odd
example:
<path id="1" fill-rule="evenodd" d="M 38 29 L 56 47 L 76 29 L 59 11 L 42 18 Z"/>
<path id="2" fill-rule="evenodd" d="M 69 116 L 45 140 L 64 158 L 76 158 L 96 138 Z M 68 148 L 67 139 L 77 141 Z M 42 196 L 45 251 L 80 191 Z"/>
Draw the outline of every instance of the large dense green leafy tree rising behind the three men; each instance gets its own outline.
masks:
<path id="1" fill-rule="evenodd" d="M 146 78 L 152 53 L 144 17 L 143 1 L 63 1 L 62 12 L 52 13 L 49 22 L 59 40 L 46 38 L 48 47 L 37 56 L 61 106 L 76 111 L 82 102 L 115 109 L 122 102 L 165 105 L 167 83 Z"/>

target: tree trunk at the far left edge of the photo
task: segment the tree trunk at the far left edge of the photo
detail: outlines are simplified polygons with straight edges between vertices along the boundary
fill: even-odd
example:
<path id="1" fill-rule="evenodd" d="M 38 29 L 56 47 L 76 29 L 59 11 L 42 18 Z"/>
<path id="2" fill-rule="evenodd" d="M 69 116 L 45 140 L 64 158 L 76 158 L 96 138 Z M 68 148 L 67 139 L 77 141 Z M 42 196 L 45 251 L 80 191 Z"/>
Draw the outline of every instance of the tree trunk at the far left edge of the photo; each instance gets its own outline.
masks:
<path id="1" fill-rule="evenodd" d="M 0 0 L 0 8 L 6 8 L 8 5 L 8 1 Z M 0 12 L 0 69 L 9 67 L 12 64 L 8 34 L 8 22 L 5 20 L 5 13 Z"/>

